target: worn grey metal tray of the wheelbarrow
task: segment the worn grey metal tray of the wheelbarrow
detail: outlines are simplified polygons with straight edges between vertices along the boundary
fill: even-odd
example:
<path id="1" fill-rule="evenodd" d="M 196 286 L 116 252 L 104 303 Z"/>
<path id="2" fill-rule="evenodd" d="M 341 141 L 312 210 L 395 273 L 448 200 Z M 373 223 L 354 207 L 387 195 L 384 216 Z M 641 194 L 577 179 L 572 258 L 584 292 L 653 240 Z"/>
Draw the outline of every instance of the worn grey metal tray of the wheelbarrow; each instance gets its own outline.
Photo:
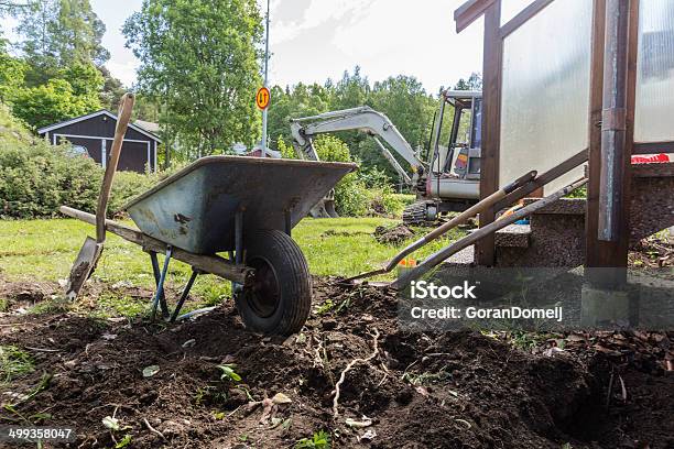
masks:
<path id="1" fill-rule="evenodd" d="M 145 234 L 196 254 L 233 250 L 235 215 L 243 232 L 291 228 L 356 164 L 207 156 L 175 173 L 124 209 Z"/>

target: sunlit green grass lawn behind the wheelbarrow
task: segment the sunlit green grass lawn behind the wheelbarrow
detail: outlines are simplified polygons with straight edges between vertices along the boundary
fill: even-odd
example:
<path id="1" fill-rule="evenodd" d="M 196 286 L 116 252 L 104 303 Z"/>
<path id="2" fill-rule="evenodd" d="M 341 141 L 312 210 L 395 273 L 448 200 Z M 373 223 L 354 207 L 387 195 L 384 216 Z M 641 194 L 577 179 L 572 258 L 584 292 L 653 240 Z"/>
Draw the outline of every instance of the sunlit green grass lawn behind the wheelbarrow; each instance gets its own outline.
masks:
<path id="1" fill-rule="evenodd" d="M 350 276 L 379 267 L 402 248 L 380 244 L 372 237 L 378 226 L 396 222 L 385 218 L 307 218 L 293 230 L 293 238 L 304 251 L 313 274 Z M 417 237 L 425 231 L 420 229 Z M 459 232 L 428 245 L 417 258 L 437 250 L 449 239 L 457 239 Z M 8 281 L 66 278 L 87 234 L 95 234 L 94 227 L 74 219 L 0 221 L 0 274 Z M 110 233 L 94 276 L 106 283 L 124 282 L 145 288 L 153 288 L 154 284 L 148 255 L 140 247 Z M 188 276 L 188 265 L 172 262 L 170 286 L 178 287 Z M 217 304 L 229 296 L 230 285 L 216 276 L 200 276 L 193 292 L 204 303 Z M 121 315 L 126 315 L 123 306 L 120 307 Z"/>

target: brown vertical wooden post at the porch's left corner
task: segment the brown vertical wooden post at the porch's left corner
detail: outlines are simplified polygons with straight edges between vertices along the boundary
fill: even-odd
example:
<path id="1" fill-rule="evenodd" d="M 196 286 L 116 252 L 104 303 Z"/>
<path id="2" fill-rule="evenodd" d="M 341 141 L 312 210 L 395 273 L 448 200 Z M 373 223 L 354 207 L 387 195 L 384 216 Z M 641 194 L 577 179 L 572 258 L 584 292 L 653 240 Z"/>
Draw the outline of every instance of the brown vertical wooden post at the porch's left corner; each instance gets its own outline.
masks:
<path id="1" fill-rule="evenodd" d="M 501 79 L 503 41 L 499 37 L 501 2 L 497 1 L 485 12 L 483 54 L 483 113 L 482 156 L 480 168 L 480 199 L 499 189 L 499 157 L 501 140 Z M 494 220 L 493 207 L 480 212 L 480 228 Z M 488 234 L 476 244 L 476 262 L 492 266 L 496 262 L 494 237 Z"/>

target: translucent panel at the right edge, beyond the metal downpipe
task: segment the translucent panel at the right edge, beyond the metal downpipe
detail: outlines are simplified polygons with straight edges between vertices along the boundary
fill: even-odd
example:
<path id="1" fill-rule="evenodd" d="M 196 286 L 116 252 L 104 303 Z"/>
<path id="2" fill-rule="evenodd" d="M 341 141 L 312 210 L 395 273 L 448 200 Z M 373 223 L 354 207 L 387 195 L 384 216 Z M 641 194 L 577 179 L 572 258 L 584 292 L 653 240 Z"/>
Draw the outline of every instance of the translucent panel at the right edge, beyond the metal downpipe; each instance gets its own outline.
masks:
<path id="1" fill-rule="evenodd" d="M 674 1 L 641 0 L 634 140 L 674 140 Z"/>

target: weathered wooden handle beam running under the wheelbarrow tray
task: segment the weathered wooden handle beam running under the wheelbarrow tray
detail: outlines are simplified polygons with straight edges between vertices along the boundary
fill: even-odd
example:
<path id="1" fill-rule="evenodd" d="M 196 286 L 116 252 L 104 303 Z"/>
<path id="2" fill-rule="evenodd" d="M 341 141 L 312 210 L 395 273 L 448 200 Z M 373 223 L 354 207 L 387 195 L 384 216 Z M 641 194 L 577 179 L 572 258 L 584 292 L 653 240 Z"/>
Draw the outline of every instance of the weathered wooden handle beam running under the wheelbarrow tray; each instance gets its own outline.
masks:
<path id="1" fill-rule="evenodd" d="M 81 210 L 74 209 L 67 206 L 58 208 L 61 213 L 76 218 L 86 223 L 96 226 L 96 216 Z M 141 231 L 128 226 L 118 223 L 113 220 L 106 220 L 106 230 L 121 237 L 122 239 L 135 243 L 143 248 L 143 251 L 153 251 L 156 253 L 166 253 L 166 243 L 161 240 L 145 236 Z M 180 248 L 173 248 L 172 258 L 204 272 L 215 274 L 229 281 L 246 284 L 250 280 L 254 270 L 247 266 L 237 266 L 226 259 L 218 255 L 194 254 Z"/>

